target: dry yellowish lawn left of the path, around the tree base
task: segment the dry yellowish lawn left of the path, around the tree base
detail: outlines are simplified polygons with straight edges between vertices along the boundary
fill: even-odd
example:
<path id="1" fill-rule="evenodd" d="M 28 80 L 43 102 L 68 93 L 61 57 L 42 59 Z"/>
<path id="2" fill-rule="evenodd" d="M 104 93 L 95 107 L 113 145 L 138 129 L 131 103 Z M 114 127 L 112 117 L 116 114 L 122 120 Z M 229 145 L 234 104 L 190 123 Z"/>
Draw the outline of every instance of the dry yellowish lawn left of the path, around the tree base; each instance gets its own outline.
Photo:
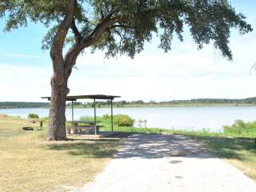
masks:
<path id="1" fill-rule="evenodd" d="M 32 126 L 34 131 L 24 131 Z M 45 129 L 22 118 L 0 118 L 0 191 L 67 191 L 102 171 L 118 139 L 46 142 Z"/>

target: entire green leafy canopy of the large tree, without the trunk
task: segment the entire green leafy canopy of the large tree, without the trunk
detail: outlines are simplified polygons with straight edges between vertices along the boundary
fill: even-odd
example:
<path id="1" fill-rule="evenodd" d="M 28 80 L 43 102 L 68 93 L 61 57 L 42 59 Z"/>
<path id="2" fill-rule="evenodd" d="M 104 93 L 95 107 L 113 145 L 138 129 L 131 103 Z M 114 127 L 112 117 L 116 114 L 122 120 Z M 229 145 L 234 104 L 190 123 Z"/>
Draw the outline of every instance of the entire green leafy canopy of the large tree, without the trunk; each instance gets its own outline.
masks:
<path id="1" fill-rule="evenodd" d="M 67 2 L 68 0 L 2 0 L 0 18 L 7 21 L 6 31 L 26 26 L 30 21 L 51 26 L 42 45 L 42 48 L 48 49 L 66 14 Z M 190 28 L 198 49 L 213 42 L 224 57 L 232 59 L 228 46 L 230 29 L 238 29 L 240 34 L 252 31 L 245 16 L 237 14 L 225 0 L 77 1 L 74 22 L 84 41 L 94 38 L 96 30 L 106 19 L 111 18 L 118 19 L 105 27 L 104 31 L 100 31 L 100 38 L 94 39 L 91 45 L 88 44 L 93 50 L 105 50 L 106 56 L 110 57 L 127 54 L 133 58 L 143 50 L 145 42 L 151 41 L 154 33 L 160 38 L 158 47 L 167 52 L 171 50 L 174 33 L 182 41 L 183 27 L 186 26 Z M 66 40 L 71 46 L 78 41 L 70 36 Z"/>

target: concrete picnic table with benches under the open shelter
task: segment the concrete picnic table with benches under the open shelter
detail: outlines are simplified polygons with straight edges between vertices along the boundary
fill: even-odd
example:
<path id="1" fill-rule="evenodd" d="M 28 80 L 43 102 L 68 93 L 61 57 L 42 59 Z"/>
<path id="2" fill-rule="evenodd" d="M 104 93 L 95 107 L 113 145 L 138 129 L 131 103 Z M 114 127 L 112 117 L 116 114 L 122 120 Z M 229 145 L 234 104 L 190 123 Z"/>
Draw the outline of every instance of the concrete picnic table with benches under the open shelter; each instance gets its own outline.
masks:
<path id="1" fill-rule="evenodd" d="M 98 134 L 99 128 L 94 121 L 72 121 L 71 126 L 67 128 L 67 134 Z"/>

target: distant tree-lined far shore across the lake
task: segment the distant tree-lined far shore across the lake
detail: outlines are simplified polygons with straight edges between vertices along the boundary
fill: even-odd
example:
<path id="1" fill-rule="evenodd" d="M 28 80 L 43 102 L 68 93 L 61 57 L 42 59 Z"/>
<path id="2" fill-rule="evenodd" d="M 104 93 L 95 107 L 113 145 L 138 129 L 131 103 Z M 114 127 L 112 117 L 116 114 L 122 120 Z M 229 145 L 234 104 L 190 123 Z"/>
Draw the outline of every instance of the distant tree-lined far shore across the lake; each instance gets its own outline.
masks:
<path id="1" fill-rule="evenodd" d="M 110 101 L 97 101 L 97 108 L 110 107 Z M 144 102 L 138 101 L 114 101 L 114 108 L 139 108 L 139 107 L 187 107 L 187 106 L 256 106 L 256 97 L 254 98 L 198 98 L 190 100 L 173 100 L 167 102 Z M 49 108 L 50 102 L 0 102 L 0 109 L 18 109 L 18 108 Z M 93 108 L 93 102 L 74 102 L 74 108 Z M 66 108 L 71 108 L 71 103 L 66 104 Z"/>

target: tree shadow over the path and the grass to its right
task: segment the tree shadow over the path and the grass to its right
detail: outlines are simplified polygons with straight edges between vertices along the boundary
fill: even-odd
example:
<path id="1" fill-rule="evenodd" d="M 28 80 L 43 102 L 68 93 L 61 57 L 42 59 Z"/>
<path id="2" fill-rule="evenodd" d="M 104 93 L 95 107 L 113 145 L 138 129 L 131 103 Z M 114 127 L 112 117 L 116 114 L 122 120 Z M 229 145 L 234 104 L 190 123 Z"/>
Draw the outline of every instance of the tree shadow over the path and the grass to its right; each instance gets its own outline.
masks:
<path id="1" fill-rule="evenodd" d="M 122 143 L 122 150 L 114 158 L 214 158 L 208 151 L 220 158 L 245 158 L 240 150 L 256 158 L 256 146 L 253 138 L 221 138 L 214 136 L 194 136 L 180 134 L 143 134 L 143 137 L 131 136 Z M 206 149 L 195 139 L 202 141 Z"/>

